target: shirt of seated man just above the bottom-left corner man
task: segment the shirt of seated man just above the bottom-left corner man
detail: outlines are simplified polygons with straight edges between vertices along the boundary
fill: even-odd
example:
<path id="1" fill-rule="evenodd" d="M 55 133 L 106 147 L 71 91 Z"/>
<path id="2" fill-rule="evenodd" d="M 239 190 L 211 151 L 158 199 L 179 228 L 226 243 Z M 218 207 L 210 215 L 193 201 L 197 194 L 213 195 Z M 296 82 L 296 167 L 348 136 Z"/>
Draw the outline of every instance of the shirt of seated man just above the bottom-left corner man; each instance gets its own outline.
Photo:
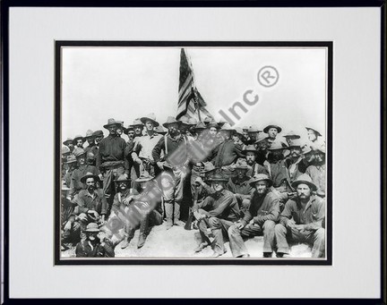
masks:
<path id="1" fill-rule="evenodd" d="M 107 214 L 107 199 L 102 190 L 95 190 L 93 194 L 90 194 L 88 190 L 80 191 L 77 204 L 76 215 L 87 213 L 88 210 L 97 211 L 99 215 Z"/>

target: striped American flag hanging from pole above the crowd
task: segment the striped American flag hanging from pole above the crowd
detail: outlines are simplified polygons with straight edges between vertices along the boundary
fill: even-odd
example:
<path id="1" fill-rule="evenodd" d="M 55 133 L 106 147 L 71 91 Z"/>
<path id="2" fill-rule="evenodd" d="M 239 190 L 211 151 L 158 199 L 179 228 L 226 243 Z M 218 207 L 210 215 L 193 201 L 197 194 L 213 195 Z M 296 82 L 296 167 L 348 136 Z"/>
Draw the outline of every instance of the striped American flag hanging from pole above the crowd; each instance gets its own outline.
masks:
<path id="1" fill-rule="evenodd" d="M 200 92 L 196 89 L 193 78 L 193 67 L 185 54 L 185 49 L 180 52 L 180 77 L 176 119 L 185 115 L 202 121 L 204 117 L 211 116 L 205 108 L 206 103 Z"/>

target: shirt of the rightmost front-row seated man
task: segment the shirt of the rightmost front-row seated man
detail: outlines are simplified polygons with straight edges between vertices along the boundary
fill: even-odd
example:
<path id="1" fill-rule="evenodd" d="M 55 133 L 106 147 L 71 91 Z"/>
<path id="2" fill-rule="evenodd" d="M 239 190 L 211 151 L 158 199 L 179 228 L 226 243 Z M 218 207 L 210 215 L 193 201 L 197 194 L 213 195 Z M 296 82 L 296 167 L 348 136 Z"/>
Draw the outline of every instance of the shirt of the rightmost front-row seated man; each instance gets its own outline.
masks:
<path id="1" fill-rule="evenodd" d="M 321 228 L 325 218 L 325 201 L 312 196 L 303 208 L 298 198 L 289 199 L 280 215 L 281 224 L 286 226 L 290 218 L 293 218 L 296 225 L 306 225 L 307 230 Z"/>

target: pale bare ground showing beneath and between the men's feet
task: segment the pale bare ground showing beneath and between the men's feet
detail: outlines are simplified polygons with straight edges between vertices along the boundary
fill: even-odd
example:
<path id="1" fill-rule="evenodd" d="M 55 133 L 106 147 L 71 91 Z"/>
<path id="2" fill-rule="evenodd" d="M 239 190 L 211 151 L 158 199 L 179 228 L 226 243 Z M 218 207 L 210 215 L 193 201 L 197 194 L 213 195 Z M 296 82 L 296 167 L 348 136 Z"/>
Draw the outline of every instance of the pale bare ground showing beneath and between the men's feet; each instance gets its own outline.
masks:
<path id="1" fill-rule="evenodd" d="M 141 249 L 137 249 L 139 230 L 136 231 L 130 245 L 121 249 L 116 246 L 116 257 L 119 258 L 209 258 L 213 251 L 207 247 L 202 252 L 194 253 L 194 249 L 200 243 L 198 230 L 187 231 L 183 227 L 174 225 L 166 230 L 166 223 L 154 226 Z M 257 236 L 245 241 L 251 258 L 262 258 L 263 237 Z M 220 258 L 232 258 L 229 243 L 225 243 L 227 253 Z M 74 257 L 74 247 L 62 251 L 63 257 Z M 273 255 L 275 257 L 275 254 Z M 311 248 L 305 244 L 297 244 L 291 247 L 290 258 L 311 258 Z M 219 258 L 214 258 L 219 259 Z"/>

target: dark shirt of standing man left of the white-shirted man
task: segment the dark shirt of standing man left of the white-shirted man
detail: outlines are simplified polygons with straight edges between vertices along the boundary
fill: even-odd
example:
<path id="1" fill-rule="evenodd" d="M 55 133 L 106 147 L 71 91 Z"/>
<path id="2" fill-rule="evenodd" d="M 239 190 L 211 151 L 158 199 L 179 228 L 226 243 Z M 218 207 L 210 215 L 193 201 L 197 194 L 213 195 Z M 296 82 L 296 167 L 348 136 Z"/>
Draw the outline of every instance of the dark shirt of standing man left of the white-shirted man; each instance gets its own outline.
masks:
<path id="1" fill-rule="evenodd" d="M 97 167 L 108 161 L 125 161 L 126 142 L 121 137 L 108 135 L 99 142 Z"/>

